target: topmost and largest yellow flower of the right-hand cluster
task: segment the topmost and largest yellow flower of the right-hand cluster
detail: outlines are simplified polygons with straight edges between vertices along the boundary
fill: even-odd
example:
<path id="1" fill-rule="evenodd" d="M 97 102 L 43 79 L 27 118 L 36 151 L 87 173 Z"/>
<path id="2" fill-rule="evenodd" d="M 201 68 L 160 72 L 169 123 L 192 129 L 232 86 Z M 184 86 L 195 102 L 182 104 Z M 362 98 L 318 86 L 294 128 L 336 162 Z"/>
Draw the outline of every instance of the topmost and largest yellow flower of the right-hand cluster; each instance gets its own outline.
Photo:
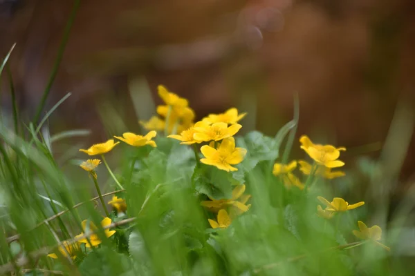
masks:
<path id="1" fill-rule="evenodd" d="M 337 160 L 340 157 L 340 150 L 346 150 L 346 148 L 335 148 L 331 145 L 313 144 L 313 142 L 303 135 L 299 141 L 301 142 L 303 150 L 317 162 L 319 165 L 324 165 L 327 168 L 338 168 L 344 166 L 344 162 Z"/>

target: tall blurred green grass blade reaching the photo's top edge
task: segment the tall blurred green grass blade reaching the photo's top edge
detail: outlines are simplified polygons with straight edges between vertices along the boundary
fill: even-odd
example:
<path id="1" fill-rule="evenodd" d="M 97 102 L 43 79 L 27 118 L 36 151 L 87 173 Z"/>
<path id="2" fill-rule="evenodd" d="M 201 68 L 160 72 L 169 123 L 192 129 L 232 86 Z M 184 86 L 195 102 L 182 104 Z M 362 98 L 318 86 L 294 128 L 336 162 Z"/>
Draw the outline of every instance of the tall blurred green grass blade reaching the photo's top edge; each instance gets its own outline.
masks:
<path id="1" fill-rule="evenodd" d="M 50 88 L 52 88 L 53 82 L 55 81 L 55 77 L 57 75 L 57 70 L 59 69 L 59 65 L 62 61 L 62 57 L 64 56 L 64 51 L 66 48 L 66 43 L 68 43 L 69 39 L 69 33 L 71 32 L 71 28 L 73 25 L 73 21 L 75 21 L 75 16 L 77 9 L 79 8 L 81 3 L 81 0 L 75 0 L 73 3 L 73 8 L 71 15 L 66 22 L 66 27 L 64 30 L 64 36 L 62 37 L 62 41 L 60 43 L 59 49 L 57 50 L 57 57 L 55 59 L 55 64 L 53 65 L 52 73 L 50 74 L 48 84 L 46 85 L 46 88 L 44 90 L 44 94 L 42 95 L 42 99 L 40 100 L 39 105 L 37 106 L 37 112 L 35 114 L 35 117 L 33 117 L 33 124 L 37 124 L 37 121 L 39 121 L 40 115 L 42 113 L 42 110 L 44 109 L 46 99 L 48 99 L 48 95 L 50 92 Z"/>

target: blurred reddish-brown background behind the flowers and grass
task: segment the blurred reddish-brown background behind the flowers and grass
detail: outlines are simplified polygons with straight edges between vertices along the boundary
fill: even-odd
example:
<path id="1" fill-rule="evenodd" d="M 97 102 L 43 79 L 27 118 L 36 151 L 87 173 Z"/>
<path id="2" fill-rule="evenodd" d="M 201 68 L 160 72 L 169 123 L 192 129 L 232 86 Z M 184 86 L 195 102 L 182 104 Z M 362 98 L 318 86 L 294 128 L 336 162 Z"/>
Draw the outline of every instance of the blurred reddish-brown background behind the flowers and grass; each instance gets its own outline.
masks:
<path id="1" fill-rule="evenodd" d="M 17 43 L 10 66 L 21 119 L 35 113 L 72 7 L 0 0 L 0 56 Z M 382 143 L 398 99 L 414 107 L 414 14 L 412 0 L 81 1 L 47 107 L 73 95 L 51 131 L 90 128 L 91 142 L 104 140 L 108 103 L 138 131 L 131 81 L 144 78 L 156 103 L 163 83 L 199 118 L 237 106 L 249 112 L 245 131 L 270 135 L 291 119 L 298 92 L 299 135 L 324 132 L 348 148 Z M 2 79 L 2 109 L 10 110 Z"/>

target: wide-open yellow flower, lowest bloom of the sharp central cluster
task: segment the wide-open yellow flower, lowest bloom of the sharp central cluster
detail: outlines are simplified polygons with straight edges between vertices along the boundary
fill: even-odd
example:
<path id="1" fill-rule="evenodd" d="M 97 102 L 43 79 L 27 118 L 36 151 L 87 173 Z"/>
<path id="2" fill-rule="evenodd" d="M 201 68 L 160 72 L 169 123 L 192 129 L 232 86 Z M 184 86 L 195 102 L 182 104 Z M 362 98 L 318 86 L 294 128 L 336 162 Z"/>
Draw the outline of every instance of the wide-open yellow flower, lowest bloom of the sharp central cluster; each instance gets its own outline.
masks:
<path id="1" fill-rule="evenodd" d="M 201 159 L 203 164 L 216 166 L 219 170 L 226 170 L 227 172 L 238 170 L 230 165 L 241 163 L 246 155 L 245 148 L 235 148 L 234 137 L 223 139 L 217 150 L 208 145 L 202 146 L 201 152 L 205 156 Z"/>

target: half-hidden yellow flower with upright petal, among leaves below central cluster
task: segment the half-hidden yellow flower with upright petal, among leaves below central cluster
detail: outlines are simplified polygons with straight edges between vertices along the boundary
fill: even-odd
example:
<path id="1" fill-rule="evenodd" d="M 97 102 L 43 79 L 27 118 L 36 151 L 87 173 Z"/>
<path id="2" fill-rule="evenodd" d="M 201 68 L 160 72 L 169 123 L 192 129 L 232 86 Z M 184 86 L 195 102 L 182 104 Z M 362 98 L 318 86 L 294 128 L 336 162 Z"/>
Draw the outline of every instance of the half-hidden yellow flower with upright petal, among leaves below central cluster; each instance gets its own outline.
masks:
<path id="1" fill-rule="evenodd" d="M 218 213 L 219 210 L 225 209 L 228 206 L 234 206 L 235 208 L 241 210 L 241 212 L 246 212 L 248 210 L 248 206 L 246 206 L 246 201 L 250 198 L 250 195 L 243 195 L 245 193 L 246 186 L 245 184 L 238 185 L 232 190 L 232 197 L 230 199 L 212 199 L 209 197 L 210 200 L 202 201 L 201 206 L 208 208 L 211 212 Z M 238 201 L 237 199 L 241 199 Z"/>

